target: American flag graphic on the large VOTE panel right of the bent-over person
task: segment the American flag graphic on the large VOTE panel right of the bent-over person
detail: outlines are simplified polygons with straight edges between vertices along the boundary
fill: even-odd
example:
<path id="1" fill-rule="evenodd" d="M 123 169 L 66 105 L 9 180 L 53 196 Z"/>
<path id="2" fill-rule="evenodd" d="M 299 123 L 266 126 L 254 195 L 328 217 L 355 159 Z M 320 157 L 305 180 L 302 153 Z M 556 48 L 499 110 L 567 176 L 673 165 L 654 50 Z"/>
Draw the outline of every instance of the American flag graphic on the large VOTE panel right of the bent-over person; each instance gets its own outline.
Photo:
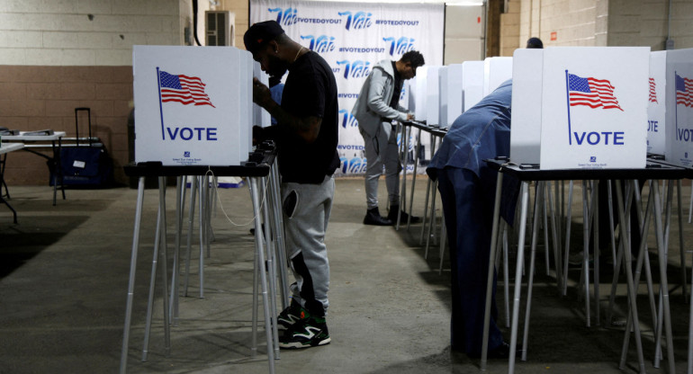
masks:
<path id="1" fill-rule="evenodd" d="M 614 96 L 614 86 L 607 79 L 583 78 L 569 74 L 568 91 L 571 106 L 587 105 L 590 108 L 616 108 L 623 111 Z"/>

